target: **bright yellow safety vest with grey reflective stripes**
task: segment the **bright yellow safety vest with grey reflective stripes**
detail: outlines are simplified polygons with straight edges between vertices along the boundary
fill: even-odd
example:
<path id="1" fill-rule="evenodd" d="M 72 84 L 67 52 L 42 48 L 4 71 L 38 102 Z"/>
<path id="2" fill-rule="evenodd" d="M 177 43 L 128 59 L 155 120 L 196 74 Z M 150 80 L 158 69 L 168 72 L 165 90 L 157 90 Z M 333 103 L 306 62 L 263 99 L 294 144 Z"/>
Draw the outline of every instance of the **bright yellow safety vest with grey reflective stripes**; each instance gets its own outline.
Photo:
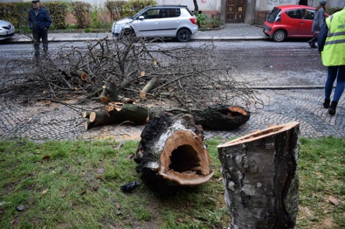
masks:
<path id="1" fill-rule="evenodd" d="M 321 52 L 325 66 L 345 65 L 345 9 L 326 19 L 328 34 Z"/>

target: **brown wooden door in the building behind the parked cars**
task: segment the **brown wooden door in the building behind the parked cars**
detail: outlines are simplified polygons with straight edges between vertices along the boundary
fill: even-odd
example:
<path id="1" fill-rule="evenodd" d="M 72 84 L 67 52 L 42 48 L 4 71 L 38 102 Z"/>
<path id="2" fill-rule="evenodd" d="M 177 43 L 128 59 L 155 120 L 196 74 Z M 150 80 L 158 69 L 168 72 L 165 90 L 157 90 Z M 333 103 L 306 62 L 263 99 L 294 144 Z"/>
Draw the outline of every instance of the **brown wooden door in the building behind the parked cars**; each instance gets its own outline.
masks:
<path id="1" fill-rule="evenodd" d="M 226 1 L 226 22 L 242 23 L 244 22 L 245 0 L 227 0 Z"/>

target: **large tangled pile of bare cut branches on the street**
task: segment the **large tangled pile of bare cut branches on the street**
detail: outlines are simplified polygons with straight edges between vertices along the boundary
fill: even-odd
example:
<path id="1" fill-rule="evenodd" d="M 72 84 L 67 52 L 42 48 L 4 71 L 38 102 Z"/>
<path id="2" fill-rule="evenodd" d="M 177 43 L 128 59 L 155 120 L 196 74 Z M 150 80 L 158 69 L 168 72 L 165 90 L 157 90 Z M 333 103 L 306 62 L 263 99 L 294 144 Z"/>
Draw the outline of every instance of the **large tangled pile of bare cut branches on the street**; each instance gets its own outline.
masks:
<path id="1" fill-rule="evenodd" d="M 176 44 L 127 36 L 78 44 L 66 43 L 37 61 L 10 61 L 0 80 L 1 91 L 28 100 L 73 98 L 77 103 L 153 98 L 173 100 L 183 108 L 240 100 L 241 105 L 249 105 L 258 100 L 246 83 L 235 80 L 234 66 L 213 43 Z"/>

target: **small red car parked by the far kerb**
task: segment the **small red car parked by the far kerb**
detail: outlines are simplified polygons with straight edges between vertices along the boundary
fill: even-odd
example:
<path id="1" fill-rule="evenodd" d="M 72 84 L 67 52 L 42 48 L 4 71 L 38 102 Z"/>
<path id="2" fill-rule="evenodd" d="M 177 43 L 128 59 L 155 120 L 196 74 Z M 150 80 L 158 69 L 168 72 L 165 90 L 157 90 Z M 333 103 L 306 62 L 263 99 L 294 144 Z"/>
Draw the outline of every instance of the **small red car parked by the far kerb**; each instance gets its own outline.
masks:
<path id="1" fill-rule="evenodd" d="M 276 42 L 281 42 L 286 37 L 312 37 L 314 13 L 315 8 L 306 5 L 276 6 L 264 23 L 263 32 Z"/>

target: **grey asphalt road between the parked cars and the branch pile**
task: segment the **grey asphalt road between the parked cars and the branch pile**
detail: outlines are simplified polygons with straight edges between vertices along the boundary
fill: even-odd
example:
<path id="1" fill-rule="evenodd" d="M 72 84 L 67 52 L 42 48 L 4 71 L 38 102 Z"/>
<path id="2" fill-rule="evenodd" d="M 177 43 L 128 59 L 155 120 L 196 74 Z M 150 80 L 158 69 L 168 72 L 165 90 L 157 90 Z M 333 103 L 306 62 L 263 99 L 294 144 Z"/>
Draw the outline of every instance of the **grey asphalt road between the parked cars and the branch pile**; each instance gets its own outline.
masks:
<path id="1" fill-rule="evenodd" d="M 194 41 L 155 43 L 162 47 L 198 47 L 210 44 Z M 83 46 L 83 42 L 50 42 L 49 50 L 71 46 Z M 233 74 L 239 81 L 251 82 L 253 86 L 323 86 L 326 67 L 322 65 L 317 49 L 306 42 L 276 43 L 270 40 L 216 41 L 216 52 L 233 66 Z M 30 59 L 34 56 L 33 45 L 27 43 L 0 44 L 0 75 L 11 60 Z"/>

